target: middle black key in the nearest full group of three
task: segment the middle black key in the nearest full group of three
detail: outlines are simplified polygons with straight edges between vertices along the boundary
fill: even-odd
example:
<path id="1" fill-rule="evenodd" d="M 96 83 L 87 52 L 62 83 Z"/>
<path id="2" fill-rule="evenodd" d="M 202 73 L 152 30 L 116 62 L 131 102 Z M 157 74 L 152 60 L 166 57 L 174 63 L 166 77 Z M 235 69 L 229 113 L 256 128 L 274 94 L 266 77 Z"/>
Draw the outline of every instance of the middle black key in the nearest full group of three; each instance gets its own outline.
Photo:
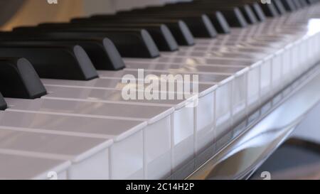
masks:
<path id="1" fill-rule="evenodd" d="M 176 51 L 178 50 L 178 43 L 172 35 L 171 31 L 165 24 L 149 23 L 149 24 L 132 24 L 119 22 L 103 22 L 103 21 L 87 21 L 82 23 L 42 23 L 38 25 L 40 28 L 76 28 L 76 29 L 95 29 L 97 31 L 112 28 L 141 28 L 146 29 L 154 39 L 157 47 L 161 51 Z"/>

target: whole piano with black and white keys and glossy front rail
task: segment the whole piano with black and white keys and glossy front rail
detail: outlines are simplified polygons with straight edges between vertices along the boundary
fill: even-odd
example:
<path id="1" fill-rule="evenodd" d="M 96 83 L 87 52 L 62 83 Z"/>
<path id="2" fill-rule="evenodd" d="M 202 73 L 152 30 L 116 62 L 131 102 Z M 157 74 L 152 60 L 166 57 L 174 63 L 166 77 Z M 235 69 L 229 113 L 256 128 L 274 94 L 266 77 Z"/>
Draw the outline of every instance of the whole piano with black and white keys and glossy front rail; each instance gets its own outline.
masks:
<path id="1" fill-rule="evenodd" d="M 319 104 L 318 0 L 57 2 L 1 2 L 0 179 L 246 179 Z"/>

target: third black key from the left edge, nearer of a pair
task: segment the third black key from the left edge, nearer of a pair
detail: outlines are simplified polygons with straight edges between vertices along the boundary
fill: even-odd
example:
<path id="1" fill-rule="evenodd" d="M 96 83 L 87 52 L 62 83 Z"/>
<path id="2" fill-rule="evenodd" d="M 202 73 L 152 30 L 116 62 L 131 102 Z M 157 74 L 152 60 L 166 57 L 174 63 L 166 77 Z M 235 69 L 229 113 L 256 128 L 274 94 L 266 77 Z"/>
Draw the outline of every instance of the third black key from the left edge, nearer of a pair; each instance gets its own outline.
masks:
<path id="1" fill-rule="evenodd" d="M 0 57 L 28 59 L 43 78 L 63 80 L 92 80 L 97 71 L 80 45 L 38 46 L 25 41 L 0 41 Z"/>

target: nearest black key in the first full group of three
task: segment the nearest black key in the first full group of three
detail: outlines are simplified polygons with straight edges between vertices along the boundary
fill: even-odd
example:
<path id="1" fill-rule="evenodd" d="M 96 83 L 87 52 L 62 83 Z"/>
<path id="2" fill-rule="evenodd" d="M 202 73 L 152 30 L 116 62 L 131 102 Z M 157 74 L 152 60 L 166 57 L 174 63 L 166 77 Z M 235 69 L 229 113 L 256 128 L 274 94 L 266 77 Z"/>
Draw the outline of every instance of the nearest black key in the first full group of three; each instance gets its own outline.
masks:
<path id="1" fill-rule="evenodd" d="M 61 40 L 84 40 L 86 38 L 109 38 L 120 55 L 124 58 L 156 58 L 159 57 L 159 49 L 146 30 L 141 29 L 117 29 L 114 31 L 91 31 L 88 29 L 64 29 L 64 28 L 18 28 L 22 33 L 46 33 L 46 37 Z"/>

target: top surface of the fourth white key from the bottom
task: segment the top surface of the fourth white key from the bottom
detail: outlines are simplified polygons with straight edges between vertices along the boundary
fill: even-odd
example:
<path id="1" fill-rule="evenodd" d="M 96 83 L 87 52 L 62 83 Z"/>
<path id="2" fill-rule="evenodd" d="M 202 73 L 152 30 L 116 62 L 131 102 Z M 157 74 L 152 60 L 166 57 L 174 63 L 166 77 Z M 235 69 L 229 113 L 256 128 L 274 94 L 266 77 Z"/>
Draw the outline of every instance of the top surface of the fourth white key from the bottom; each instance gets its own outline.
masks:
<path id="1" fill-rule="evenodd" d="M 136 104 L 113 104 L 108 102 L 79 102 L 71 99 L 11 99 L 6 98 L 9 109 L 26 112 L 55 112 L 83 117 L 107 119 L 125 118 L 133 121 L 146 121 L 149 124 L 167 117 L 173 112 L 170 107 Z M 139 110 L 139 112 L 137 112 Z"/>

